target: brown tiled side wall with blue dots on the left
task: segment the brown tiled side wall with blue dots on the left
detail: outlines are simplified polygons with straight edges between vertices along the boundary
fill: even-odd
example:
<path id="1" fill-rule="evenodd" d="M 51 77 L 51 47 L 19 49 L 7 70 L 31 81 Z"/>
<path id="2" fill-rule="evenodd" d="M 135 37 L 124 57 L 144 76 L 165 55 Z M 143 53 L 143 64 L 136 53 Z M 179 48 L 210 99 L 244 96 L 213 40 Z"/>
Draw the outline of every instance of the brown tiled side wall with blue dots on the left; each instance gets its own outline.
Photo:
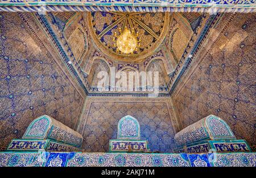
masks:
<path id="1" fill-rule="evenodd" d="M 0 147 L 21 138 L 40 115 L 76 129 L 84 103 L 85 94 L 49 37 L 28 16 L 0 13 Z"/>

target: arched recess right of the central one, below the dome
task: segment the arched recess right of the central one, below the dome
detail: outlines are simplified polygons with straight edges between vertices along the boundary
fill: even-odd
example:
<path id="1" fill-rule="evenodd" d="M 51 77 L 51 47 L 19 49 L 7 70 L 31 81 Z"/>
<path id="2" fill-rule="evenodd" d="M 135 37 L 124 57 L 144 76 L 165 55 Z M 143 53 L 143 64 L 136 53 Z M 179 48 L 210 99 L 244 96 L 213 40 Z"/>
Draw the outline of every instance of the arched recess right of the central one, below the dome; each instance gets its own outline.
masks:
<path id="1" fill-rule="evenodd" d="M 165 87 L 167 86 L 168 80 L 170 79 L 168 77 L 166 67 L 164 66 L 164 61 L 162 58 L 155 58 L 148 62 L 146 68 L 146 72 L 151 71 L 154 76 L 154 71 L 158 71 L 159 73 L 159 86 Z M 154 81 L 154 79 L 152 79 Z"/>

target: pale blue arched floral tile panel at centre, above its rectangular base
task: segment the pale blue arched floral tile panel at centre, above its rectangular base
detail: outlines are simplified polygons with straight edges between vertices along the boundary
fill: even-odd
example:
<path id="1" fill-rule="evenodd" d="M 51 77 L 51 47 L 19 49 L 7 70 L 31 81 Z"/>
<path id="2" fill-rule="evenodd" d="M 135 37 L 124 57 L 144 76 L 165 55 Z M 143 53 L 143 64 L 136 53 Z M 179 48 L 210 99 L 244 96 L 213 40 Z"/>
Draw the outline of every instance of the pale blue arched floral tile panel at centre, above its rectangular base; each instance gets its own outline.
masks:
<path id="1" fill-rule="evenodd" d="M 136 118 L 127 115 L 118 122 L 117 139 L 141 139 L 141 128 Z"/>

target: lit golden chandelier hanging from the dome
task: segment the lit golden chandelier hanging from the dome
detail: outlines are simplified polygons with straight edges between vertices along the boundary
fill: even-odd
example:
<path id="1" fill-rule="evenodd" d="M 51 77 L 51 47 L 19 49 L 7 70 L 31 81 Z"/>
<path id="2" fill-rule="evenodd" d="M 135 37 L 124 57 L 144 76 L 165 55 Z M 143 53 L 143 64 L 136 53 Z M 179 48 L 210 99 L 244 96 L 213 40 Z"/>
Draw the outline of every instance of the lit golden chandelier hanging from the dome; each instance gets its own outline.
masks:
<path id="1" fill-rule="evenodd" d="M 113 41 L 115 42 L 114 47 L 117 47 L 116 52 L 119 51 L 125 54 L 133 54 L 134 51 L 138 52 L 141 44 L 141 37 L 138 37 L 138 32 L 135 33 L 134 28 L 131 31 L 125 27 L 122 31 L 119 28 L 120 35 L 117 36 L 117 32 L 114 32 Z"/>

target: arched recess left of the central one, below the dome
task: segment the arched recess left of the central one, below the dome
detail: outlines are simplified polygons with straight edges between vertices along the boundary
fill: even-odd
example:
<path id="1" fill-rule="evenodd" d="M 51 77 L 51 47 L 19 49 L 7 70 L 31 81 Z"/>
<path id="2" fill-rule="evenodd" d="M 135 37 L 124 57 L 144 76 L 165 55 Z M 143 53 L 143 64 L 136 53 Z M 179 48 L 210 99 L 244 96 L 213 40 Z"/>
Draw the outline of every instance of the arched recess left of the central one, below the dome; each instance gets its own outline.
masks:
<path id="1" fill-rule="evenodd" d="M 97 87 L 98 82 L 102 79 L 98 78 L 98 73 L 101 71 L 108 73 L 108 81 L 106 82 L 109 84 L 110 66 L 108 62 L 106 62 L 104 58 L 101 57 L 93 58 L 93 63 L 90 67 L 89 75 L 87 78 L 87 81 L 91 87 Z"/>

